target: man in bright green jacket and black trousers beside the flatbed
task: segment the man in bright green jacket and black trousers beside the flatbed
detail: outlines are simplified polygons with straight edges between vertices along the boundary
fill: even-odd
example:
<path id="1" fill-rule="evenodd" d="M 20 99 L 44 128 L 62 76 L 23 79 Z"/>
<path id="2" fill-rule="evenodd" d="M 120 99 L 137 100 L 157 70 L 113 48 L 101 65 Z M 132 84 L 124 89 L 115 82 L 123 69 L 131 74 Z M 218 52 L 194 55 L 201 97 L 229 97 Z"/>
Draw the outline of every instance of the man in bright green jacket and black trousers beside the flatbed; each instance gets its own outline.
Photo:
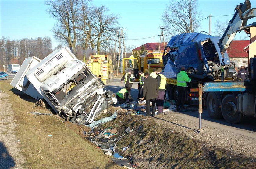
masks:
<path id="1" fill-rule="evenodd" d="M 177 74 L 177 88 L 178 88 L 178 100 L 176 103 L 176 110 L 179 111 L 180 108 L 184 109 L 184 103 L 186 99 L 187 82 L 191 79 L 188 77 L 185 67 L 181 67 L 180 73 Z"/>

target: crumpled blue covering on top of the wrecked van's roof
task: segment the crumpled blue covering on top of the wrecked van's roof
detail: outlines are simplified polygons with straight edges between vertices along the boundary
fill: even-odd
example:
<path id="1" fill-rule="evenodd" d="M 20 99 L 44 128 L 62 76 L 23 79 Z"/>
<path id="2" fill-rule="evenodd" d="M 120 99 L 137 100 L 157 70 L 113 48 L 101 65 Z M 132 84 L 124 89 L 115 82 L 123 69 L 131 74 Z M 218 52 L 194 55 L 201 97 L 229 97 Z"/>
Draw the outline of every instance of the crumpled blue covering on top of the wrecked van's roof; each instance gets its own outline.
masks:
<path id="1" fill-rule="evenodd" d="M 181 33 L 179 35 L 172 36 L 171 40 L 168 42 L 168 47 L 180 46 L 183 43 L 199 42 L 200 40 L 211 38 L 220 39 L 216 36 L 206 35 L 202 33 L 192 32 L 192 33 Z"/>

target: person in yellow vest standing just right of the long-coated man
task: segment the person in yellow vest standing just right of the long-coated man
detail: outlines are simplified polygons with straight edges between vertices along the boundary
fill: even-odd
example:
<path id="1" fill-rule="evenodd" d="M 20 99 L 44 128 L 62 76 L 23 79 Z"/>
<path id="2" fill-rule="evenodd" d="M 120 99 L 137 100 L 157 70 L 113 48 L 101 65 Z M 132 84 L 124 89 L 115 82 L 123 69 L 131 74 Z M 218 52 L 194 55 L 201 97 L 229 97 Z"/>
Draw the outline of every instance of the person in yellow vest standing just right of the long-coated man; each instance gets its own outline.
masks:
<path id="1" fill-rule="evenodd" d="M 166 77 L 162 73 L 162 69 L 158 68 L 156 80 L 158 82 L 158 96 L 156 98 L 156 106 L 158 114 L 163 113 L 164 108 L 164 95 L 165 95 L 165 86 L 166 86 Z"/>

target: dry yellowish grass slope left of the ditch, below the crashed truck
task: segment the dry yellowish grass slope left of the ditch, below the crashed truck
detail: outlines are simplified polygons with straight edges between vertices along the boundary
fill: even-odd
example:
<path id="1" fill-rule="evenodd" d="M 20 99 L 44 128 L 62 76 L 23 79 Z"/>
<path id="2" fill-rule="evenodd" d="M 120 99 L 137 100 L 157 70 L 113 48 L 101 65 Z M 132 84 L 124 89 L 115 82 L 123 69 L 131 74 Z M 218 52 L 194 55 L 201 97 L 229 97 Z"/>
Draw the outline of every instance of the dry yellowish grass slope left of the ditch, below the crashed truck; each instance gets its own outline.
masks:
<path id="1" fill-rule="evenodd" d="M 24 168 L 118 168 L 101 150 L 79 136 L 79 126 L 27 113 L 50 112 L 35 107 L 36 100 L 12 88 L 10 82 L 0 81 L 0 90 L 10 95 L 8 100 L 18 123 L 16 134 L 26 158 Z"/>

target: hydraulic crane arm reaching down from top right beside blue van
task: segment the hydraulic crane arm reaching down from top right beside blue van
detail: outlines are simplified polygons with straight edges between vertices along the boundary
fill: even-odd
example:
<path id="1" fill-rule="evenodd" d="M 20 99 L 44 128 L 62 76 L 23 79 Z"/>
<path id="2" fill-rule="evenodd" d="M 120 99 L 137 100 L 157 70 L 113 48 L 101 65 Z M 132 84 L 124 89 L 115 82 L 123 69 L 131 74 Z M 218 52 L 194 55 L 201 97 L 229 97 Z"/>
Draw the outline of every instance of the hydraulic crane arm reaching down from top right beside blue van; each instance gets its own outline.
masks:
<path id="1" fill-rule="evenodd" d="M 237 32 L 250 27 L 256 27 L 256 22 L 246 25 L 248 19 L 256 16 L 256 8 L 251 9 L 251 2 L 249 0 L 245 0 L 244 4 L 240 3 L 237 5 L 235 10 L 235 14 L 229 21 L 229 25 L 218 43 L 221 53 L 224 53 L 229 48 L 229 44 L 235 38 Z"/>

